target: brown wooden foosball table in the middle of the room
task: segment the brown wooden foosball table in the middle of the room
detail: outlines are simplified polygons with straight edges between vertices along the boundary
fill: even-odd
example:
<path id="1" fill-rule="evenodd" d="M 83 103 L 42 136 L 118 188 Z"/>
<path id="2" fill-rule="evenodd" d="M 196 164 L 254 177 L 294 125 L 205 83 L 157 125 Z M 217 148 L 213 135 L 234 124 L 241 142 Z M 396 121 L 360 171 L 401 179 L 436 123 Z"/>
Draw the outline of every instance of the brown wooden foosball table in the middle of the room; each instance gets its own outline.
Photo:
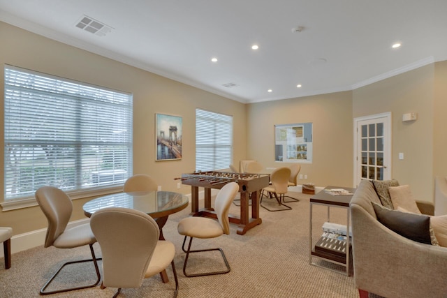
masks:
<path id="1" fill-rule="evenodd" d="M 237 234 L 241 235 L 262 223 L 259 217 L 259 195 L 269 184 L 269 174 L 209 171 L 182 174 L 182 178 L 177 179 L 180 179 L 182 184 L 191 185 L 191 216 L 217 218 L 211 207 L 211 189 L 220 189 L 229 182 L 236 182 L 240 192 L 240 216 L 229 214 L 230 223 L 237 224 Z M 205 189 L 205 207 L 202 209 L 199 209 L 198 202 L 199 187 Z M 251 200 L 251 218 L 249 200 Z"/>

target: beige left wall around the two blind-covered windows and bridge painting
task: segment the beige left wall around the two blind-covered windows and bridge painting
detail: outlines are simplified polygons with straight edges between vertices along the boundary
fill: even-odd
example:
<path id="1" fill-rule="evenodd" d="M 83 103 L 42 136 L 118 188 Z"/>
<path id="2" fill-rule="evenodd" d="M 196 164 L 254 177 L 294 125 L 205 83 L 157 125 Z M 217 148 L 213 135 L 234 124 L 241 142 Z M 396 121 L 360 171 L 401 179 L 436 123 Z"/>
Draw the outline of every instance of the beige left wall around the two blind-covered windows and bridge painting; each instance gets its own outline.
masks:
<path id="1" fill-rule="evenodd" d="M 1 66 L 11 64 L 133 93 L 133 172 L 153 175 L 163 190 L 177 191 L 177 181 L 174 178 L 195 170 L 196 107 L 233 115 L 234 158 L 237 161 L 244 158 L 246 115 L 245 105 L 242 103 L 64 45 L 3 22 L 0 22 L 0 40 Z M 2 70 L 0 90 L 4 89 L 3 81 Z M 0 94 L 3 102 L 3 92 Z M 155 161 L 156 112 L 183 118 L 182 160 Z M 3 110 L 0 114 L 0 123 L 3 126 Z M 3 127 L 0 142 L 3 148 Z M 3 158 L 0 158 L 0 168 L 3 168 Z M 0 173 L 3 193 L 3 171 Z M 190 193 L 191 188 L 182 186 L 180 191 Z M 87 200 L 89 199 L 73 201 L 72 220 L 85 218 L 82 204 Z M 21 234 L 45 228 L 47 223 L 38 207 L 30 207 L 1 212 L 0 226 L 2 225 L 13 227 L 14 234 Z"/>

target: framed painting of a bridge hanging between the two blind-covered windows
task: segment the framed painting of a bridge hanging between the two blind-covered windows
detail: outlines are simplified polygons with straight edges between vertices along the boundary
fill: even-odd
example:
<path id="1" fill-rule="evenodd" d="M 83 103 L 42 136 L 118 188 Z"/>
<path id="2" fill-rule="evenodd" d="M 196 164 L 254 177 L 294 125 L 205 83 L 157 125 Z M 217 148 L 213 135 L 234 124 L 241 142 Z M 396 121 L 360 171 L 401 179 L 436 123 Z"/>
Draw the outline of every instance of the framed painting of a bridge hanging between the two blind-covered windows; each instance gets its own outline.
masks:
<path id="1" fill-rule="evenodd" d="M 182 159 L 182 117 L 155 114 L 155 160 Z"/>

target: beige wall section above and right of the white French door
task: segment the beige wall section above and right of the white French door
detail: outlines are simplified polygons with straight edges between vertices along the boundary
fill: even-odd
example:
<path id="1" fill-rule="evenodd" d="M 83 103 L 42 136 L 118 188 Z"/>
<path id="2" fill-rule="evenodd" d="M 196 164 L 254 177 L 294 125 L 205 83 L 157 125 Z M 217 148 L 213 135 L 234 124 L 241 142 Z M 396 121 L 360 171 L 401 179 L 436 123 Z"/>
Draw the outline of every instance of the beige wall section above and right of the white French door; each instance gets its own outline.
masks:
<path id="1" fill-rule="evenodd" d="M 433 200 L 433 87 L 432 64 L 353 91 L 354 118 L 391 112 L 391 177 L 409 184 L 416 198 L 427 201 Z M 418 113 L 418 119 L 403 122 L 402 114 L 408 112 Z"/>

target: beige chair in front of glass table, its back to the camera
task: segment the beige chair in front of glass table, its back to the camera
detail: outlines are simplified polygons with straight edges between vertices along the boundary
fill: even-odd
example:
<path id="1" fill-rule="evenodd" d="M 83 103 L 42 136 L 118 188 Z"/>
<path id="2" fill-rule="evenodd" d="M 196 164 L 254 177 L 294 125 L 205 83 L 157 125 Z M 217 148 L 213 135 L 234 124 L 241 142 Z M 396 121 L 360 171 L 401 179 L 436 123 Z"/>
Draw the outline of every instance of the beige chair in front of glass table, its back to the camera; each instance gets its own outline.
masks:
<path id="1" fill-rule="evenodd" d="M 159 226 L 142 211 L 109 207 L 96 211 L 90 220 L 103 254 L 101 288 L 140 288 L 144 278 L 161 273 L 172 266 L 175 295 L 179 289 L 175 271 L 175 246 L 159 240 Z"/>

